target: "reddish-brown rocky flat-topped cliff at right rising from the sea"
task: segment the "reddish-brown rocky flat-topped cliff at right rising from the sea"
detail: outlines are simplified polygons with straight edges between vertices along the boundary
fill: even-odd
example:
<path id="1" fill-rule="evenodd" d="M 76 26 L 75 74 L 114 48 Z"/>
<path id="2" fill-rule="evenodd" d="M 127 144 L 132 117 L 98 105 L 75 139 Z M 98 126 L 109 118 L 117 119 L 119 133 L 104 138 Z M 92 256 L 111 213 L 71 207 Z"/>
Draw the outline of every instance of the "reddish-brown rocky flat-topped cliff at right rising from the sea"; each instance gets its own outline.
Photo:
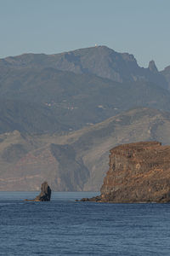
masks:
<path id="1" fill-rule="evenodd" d="M 170 146 L 123 144 L 111 149 L 109 165 L 97 201 L 170 201 Z"/>

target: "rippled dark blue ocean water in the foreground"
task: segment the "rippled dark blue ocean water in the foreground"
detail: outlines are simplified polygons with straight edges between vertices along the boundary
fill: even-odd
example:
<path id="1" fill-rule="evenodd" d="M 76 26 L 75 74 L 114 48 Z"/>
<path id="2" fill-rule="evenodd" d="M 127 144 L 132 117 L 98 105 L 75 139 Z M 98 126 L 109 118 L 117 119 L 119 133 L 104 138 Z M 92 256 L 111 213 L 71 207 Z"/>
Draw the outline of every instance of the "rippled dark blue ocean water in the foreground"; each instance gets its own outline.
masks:
<path id="1" fill-rule="evenodd" d="M 0 255 L 170 255 L 170 204 L 76 202 L 96 193 L 0 192 Z"/>

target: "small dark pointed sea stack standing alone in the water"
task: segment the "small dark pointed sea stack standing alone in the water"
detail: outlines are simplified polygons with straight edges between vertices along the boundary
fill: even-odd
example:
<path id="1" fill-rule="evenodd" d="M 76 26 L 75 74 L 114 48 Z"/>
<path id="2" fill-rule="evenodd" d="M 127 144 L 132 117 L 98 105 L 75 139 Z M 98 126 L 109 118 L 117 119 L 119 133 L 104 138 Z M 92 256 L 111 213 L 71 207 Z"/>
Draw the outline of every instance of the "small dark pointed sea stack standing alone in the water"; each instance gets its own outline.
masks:
<path id="1" fill-rule="evenodd" d="M 37 195 L 35 199 L 26 201 L 50 201 L 51 199 L 51 189 L 47 182 L 42 183 L 40 195 Z"/>

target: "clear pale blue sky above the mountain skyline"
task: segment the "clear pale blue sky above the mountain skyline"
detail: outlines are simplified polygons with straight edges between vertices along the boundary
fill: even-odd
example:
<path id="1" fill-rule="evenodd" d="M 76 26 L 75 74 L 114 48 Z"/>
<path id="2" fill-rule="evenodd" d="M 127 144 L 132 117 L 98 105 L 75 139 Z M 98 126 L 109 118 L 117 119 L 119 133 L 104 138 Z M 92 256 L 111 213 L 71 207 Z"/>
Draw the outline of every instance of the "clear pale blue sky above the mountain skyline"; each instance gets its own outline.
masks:
<path id="1" fill-rule="evenodd" d="M 169 0 L 0 0 L 0 58 L 106 45 L 170 65 Z"/>

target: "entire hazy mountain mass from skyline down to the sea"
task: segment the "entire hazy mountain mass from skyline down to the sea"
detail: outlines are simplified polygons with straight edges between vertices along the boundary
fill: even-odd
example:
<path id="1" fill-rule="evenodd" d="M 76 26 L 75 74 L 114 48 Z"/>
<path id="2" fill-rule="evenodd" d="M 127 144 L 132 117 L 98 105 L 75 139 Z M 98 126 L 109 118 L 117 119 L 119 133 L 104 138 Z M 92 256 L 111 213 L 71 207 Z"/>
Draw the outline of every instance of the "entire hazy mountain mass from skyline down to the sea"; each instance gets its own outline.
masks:
<path id="1" fill-rule="evenodd" d="M 98 190 L 112 147 L 169 143 L 169 89 L 169 67 L 105 46 L 1 59 L 0 189 Z"/>

